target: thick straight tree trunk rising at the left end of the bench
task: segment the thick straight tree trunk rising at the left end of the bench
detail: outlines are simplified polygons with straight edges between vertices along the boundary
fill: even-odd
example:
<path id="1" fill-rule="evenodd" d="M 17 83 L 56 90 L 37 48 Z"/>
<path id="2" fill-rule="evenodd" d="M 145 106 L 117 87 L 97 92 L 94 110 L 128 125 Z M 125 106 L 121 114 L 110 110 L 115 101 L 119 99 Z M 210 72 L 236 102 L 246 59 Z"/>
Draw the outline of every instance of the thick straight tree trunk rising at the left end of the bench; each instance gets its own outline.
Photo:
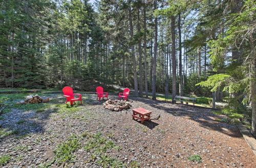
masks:
<path id="1" fill-rule="evenodd" d="M 175 17 L 171 17 L 171 31 L 172 31 L 172 62 L 173 62 L 173 96 L 172 96 L 172 103 L 175 102 L 176 97 L 176 45 L 175 45 Z"/>

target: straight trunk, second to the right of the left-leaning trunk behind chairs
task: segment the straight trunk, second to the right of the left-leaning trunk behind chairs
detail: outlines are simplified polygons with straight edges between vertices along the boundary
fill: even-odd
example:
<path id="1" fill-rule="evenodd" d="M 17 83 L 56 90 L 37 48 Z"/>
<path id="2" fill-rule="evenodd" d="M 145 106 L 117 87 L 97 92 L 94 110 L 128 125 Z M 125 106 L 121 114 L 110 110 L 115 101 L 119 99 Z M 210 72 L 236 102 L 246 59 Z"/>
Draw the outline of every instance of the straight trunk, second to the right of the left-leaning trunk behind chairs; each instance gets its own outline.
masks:
<path id="1" fill-rule="evenodd" d="M 144 71 L 145 71 L 145 93 L 146 98 L 148 98 L 147 92 L 147 62 L 146 62 L 146 5 L 143 6 L 143 19 L 144 19 Z"/>

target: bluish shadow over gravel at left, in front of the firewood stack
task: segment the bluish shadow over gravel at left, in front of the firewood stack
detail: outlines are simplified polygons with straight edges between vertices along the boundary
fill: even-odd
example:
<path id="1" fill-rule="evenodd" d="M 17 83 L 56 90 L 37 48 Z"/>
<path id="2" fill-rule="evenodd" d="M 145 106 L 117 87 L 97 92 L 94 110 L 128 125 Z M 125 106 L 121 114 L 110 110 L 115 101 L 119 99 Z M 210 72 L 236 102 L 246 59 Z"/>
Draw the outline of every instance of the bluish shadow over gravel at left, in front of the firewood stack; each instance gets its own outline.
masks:
<path id="1" fill-rule="evenodd" d="M 0 120 L 0 143 L 8 141 L 7 138 L 23 138 L 33 133 L 45 131 L 44 125 L 50 115 L 57 113 L 58 106 L 64 105 L 66 98 L 51 97 L 48 103 L 18 104 L 11 105 L 11 111 L 1 115 Z M 88 103 L 84 101 L 84 105 Z M 79 105 L 79 106 L 84 106 Z M 72 110 L 69 107 L 67 109 Z"/>

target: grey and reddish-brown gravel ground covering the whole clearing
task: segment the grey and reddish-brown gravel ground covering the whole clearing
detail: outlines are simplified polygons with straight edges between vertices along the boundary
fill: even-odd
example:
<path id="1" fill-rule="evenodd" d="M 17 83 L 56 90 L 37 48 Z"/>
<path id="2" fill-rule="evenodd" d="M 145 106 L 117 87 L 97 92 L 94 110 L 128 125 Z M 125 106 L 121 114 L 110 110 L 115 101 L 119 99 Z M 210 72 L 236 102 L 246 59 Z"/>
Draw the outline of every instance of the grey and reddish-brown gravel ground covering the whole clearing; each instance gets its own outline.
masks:
<path id="1" fill-rule="evenodd" d="M 100 155 L 91 158 L 93 151 L 83 148 L 87 138 L 73 151 L 74 161 L 57 164 L 53 151 L 72 134 L 101 132 L 120 146 L 106 154 L 128 166 L 137 162 L 141 167 L 256 167 L 256 157 L 238 128 L 215 121 L 223 116 L 210 109 L 130 97 L 132 108 L 116 112 L 104 109 L 104 101 L 96 101 L 95 95 L 82 97 L 83 105 L 72 113 L 58 112 L 57 105 L 65 99 L 53 95 L 50 103 L 54 103 L 41 113 L 13 108 L 1 115 L 1 129 L 18 130 L 0 138 L 0 157 L 10 156 L 3 166 L 44 167 L 51 162 L 51 167 L 100 167 Z M 152 110 L 152 118 L 161 117 L 142 125 L 131 116 L 138 107 Z M 199 155 L 201 161 L 189 160 L 193 155 Z"/>

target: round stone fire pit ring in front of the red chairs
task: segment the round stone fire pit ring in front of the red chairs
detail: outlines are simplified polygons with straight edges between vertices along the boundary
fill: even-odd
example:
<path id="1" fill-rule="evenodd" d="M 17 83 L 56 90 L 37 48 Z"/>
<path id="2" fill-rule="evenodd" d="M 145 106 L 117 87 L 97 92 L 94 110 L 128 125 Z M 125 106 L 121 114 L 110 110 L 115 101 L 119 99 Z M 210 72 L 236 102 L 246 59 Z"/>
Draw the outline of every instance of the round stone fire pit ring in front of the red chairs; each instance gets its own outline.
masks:
<path id="1" fill-rule="evenodd" d="M 126 100 L 106 100 L 103 103 L 103 107 L 112 111 L 120 111 L 132 107 L 132 105 Z"/>

